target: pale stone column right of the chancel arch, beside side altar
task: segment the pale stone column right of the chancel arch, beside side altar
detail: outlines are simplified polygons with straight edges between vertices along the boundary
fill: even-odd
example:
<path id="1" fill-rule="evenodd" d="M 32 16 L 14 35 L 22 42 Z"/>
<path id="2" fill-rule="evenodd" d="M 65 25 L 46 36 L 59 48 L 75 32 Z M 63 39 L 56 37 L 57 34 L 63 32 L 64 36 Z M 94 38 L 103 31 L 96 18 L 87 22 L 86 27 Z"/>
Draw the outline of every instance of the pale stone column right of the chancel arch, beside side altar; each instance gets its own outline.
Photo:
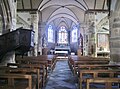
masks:
<path id="1" fill-rule="evenodd" d="M 97 39 L 96 39 L 96 13 L 86 14 L 86 31 L 88 30 L 88 54 L 97 57 Z"/>

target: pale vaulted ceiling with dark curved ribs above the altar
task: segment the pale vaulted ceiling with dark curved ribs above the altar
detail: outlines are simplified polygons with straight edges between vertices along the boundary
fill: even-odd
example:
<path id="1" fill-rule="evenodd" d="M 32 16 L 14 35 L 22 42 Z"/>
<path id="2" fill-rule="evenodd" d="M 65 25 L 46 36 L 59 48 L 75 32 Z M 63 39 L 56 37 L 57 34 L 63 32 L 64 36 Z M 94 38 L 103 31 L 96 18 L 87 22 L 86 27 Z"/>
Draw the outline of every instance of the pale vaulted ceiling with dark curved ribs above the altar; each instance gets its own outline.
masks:
<path id="1" fill-rule="evenodd" d="M 17 0 L 17 11 L 40 11 L 42 22 L 68 29 L 83 24 L 85 14 L 108 12 L 110 0 Z"/>

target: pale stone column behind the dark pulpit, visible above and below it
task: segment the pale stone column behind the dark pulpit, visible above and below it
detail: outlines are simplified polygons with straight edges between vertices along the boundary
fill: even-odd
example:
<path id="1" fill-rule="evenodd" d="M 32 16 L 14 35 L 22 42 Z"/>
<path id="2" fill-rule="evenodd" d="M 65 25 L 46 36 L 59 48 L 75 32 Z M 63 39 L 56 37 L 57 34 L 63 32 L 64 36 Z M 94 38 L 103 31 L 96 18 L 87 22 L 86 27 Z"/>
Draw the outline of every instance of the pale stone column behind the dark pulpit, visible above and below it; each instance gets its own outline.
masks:
<path id="1" fill-rule="evenodd" d="M 17 1 L 15 0 L 8 0 L 11 12 L 11 21 L 7 23 L 7 30 L 10 29 L 16 30 L 16 9 L 17 9 Z M 15 63 L 15 51 L 7 52 L 2 59 L 1 65 L 6 65 L 7 63 Z"/>

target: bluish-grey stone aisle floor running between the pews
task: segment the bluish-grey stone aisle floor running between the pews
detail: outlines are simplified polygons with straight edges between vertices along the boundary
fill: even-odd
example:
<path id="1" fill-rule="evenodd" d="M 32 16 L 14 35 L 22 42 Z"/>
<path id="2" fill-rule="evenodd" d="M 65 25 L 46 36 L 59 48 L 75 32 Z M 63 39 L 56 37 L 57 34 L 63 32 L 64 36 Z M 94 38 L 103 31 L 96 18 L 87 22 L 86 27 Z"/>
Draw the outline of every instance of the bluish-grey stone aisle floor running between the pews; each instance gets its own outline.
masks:
<path id="1" fill-rule="evenodd" d="M 77 79 L 73 76 L 67 60 L 58 60 L 50 74 L 45 89 L 77 89 Z"/>

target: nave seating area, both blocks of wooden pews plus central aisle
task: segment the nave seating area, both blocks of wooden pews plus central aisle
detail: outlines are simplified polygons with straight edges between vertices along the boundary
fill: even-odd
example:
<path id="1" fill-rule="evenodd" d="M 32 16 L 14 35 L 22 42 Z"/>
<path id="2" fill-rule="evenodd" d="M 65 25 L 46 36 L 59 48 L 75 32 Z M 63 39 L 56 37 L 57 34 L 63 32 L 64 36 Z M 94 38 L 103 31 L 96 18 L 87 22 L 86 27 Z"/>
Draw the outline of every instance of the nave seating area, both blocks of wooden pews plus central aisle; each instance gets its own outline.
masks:
<path id="1" fill-rule="evenodd" d="M 0 89 L 119 89 L 119 68 L 109 58 L 16 57 L 16 63 L 0 66 Z"/>

